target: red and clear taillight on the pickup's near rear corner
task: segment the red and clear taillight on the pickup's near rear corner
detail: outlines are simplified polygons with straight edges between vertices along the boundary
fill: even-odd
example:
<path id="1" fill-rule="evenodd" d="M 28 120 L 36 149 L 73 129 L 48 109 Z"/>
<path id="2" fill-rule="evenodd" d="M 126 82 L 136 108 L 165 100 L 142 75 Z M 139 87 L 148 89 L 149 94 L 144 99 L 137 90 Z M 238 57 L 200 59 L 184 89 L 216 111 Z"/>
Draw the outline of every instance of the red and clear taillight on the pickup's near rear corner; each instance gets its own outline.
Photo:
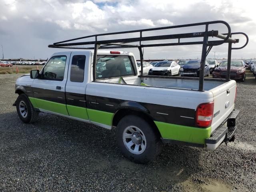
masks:
<path id="1" fill-rule="evenodd" d="M 196 126 L 209 127 L 212 124 L 214 102 L 202 103 L 196 109 Z"/>

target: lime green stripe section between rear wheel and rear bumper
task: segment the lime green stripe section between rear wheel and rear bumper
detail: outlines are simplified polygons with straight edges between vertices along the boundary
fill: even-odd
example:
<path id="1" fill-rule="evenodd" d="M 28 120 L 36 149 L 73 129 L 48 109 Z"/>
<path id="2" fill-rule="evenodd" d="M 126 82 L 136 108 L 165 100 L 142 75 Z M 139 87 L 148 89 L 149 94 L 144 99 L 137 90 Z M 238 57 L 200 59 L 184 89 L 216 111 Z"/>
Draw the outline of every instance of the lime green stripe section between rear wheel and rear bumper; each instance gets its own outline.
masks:
<path id="1" fill-rule="evenodd" d="M 205 144 L 205 139 L 210 138 L 212 130 L 212 127 L 196 128 L 158 121 L 154 122 L 162 138 L 196 144 Z"/>

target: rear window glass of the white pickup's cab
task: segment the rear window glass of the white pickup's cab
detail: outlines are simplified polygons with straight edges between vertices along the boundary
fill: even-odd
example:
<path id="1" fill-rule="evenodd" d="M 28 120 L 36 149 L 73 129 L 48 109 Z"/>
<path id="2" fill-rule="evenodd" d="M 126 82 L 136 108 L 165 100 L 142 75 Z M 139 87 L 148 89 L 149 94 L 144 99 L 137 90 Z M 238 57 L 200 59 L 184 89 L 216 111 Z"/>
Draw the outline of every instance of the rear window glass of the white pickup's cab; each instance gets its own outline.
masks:
<path id="1" fill-rule="evenodd" d="M 96 79 L 136 75 L 134 59 L 124 55 L 98 55 L 96 61 Z"/>

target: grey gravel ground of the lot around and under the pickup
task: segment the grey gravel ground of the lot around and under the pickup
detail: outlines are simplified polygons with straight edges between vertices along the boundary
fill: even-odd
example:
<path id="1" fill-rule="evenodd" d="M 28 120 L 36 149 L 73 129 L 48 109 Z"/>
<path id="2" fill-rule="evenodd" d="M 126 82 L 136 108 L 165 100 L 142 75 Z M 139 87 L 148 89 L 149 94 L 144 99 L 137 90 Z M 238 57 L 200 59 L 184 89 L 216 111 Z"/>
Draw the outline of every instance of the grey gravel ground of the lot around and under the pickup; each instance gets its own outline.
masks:
<path id="1" fill-rule="evenodd" d="M 0 191 L 256 191 L 252 76 L 238 82 L 234 143 L 214 151 L 165 145 L 147 165 L 120 154 L 115 130 L 50 114 L 22 123 L 12 106 L 19 76 L 0 75 Z"/>

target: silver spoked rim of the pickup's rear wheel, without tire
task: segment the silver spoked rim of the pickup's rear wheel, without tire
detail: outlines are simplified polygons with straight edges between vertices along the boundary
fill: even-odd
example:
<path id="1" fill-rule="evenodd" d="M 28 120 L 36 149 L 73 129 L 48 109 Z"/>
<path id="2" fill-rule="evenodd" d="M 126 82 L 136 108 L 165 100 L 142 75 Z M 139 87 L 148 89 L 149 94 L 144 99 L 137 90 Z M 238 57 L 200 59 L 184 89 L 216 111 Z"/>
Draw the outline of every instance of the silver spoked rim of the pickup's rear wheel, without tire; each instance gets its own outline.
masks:
<path id="1" fill-rule="evenodd" d="M 136 126 L 128 126 L 123 132 L 123 142 L 126 149 L 132 154 L 142 154 L 146 150 L 146 137 L 142 130 Z"/>

